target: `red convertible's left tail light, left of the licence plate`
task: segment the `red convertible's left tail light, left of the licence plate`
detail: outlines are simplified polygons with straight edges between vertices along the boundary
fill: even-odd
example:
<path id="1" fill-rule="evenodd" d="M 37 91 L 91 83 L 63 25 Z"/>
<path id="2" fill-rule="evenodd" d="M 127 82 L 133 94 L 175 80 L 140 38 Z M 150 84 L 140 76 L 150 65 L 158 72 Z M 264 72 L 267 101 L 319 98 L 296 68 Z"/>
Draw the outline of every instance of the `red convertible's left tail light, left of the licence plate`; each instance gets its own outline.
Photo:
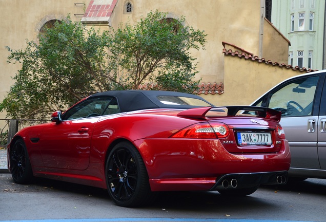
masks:
<path id="1" fill-rule="evenodd" d="M 172 135 L 172 138 L 226 138 L 229 134 L 230 129 L 226 124 L 206 122 L 188 126 Z"/>

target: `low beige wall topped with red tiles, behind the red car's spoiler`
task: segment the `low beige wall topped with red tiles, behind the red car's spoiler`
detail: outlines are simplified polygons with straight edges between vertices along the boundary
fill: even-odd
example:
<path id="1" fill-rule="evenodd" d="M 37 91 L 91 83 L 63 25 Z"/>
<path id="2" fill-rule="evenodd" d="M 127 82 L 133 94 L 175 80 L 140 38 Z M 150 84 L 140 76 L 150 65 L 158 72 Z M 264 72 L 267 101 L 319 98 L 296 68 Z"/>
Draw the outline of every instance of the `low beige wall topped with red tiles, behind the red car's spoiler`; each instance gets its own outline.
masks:
<path id="1" fill-rule="evenodd" d="M 215 105 L 250 105 L 279 82 L 303 74 L 292 68 L 225 55 L 225 91 L 210 100 Z"/>

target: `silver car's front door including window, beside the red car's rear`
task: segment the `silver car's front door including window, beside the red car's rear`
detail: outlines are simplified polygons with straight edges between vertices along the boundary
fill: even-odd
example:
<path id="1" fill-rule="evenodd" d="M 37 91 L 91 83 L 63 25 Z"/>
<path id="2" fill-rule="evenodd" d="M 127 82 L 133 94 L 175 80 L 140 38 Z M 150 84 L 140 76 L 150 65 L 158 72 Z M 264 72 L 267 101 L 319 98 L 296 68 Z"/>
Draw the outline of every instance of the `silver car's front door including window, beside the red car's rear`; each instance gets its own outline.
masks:
<path id="1" fill-rule="evenodd" d="M 282 112 L 280 124 L 289 140 L 291 168 L 320 169 L 318 110 L 314 109 L 319 79 L 320 76 L 294 79 L 270 94 L 268 107 Z"/>

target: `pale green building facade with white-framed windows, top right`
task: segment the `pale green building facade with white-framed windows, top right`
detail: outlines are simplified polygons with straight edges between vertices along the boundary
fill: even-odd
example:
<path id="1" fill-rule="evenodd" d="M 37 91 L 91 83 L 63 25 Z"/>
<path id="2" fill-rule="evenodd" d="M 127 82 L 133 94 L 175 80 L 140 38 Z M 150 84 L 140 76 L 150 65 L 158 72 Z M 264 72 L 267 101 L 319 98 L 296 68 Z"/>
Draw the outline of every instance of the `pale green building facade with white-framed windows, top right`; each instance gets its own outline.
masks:
<path id="1" fill-rule="evenodd" d="M 289 65 L 325 68 L 325 0 L 273 0 L 271 19 L 291 42 Z"/>

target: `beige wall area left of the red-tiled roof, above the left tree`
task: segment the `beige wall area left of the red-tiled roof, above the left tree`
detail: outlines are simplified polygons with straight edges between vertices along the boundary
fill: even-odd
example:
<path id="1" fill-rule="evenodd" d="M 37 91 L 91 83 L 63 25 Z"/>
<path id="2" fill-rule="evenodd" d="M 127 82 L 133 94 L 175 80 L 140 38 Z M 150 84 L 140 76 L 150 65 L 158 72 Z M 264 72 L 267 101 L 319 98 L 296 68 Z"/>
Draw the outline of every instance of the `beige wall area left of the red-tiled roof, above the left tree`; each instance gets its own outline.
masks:
<path id="1" fill-rule="evenodd" d="M 86 5 L 74 5 L 74 3 Z M 28 41 L 37 40 L 39 29 L 48 21 L 62 20 L 70 13 L 72 21 L 80 21 L 85 7 L 90 0 L 0 0 L 0 101 L 2 101 L 13 83 L 11 77 L 15 75 L 20 64 L 7 64 L 10 54 L 5 46 L 17 50 L 23 49 Z M 0 113 L 0 119 L 5 118 Z"/>

